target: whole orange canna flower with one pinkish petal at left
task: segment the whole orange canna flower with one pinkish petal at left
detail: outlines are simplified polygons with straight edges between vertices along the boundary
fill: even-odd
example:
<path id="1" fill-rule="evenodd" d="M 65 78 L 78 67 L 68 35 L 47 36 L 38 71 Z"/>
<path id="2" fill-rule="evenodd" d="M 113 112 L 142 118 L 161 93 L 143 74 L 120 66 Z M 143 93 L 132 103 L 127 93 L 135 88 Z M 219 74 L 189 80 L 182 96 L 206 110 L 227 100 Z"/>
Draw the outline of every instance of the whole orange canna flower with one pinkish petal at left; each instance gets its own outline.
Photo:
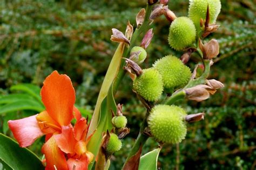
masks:
<path id="1" fill-rule="evenodd" d="M 44 80 L 41 97 L 45 111 L 28 118 L 9 120 L 19 146 L 26 147 L 46 135 L 42 153 L 45 169 L 87 169 L 93 155 L 86 151 L 87 121 L 74 106 L 75 90 L 65 74 L 53 71 Z M 76 118 L 73 128 L 71 120 Z M 64 141 L 65 139 L 65 141 Z M 66 160 L 68 158 L 68 160 Z"/>

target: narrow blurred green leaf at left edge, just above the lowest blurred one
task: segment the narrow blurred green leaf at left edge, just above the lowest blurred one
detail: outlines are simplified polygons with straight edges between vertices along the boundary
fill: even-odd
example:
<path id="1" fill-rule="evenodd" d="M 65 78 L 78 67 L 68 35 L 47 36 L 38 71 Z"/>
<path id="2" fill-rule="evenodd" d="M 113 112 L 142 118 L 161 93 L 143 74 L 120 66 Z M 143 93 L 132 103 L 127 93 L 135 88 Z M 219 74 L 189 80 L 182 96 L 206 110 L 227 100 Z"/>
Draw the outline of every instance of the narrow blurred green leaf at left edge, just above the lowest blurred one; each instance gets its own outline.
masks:
<path id="1" fill-rule="evenodd" d="M 29 94 L 8 94 L 0 96 L 0 104 L 12 103 L 15 101 L 33 99 Z"/>

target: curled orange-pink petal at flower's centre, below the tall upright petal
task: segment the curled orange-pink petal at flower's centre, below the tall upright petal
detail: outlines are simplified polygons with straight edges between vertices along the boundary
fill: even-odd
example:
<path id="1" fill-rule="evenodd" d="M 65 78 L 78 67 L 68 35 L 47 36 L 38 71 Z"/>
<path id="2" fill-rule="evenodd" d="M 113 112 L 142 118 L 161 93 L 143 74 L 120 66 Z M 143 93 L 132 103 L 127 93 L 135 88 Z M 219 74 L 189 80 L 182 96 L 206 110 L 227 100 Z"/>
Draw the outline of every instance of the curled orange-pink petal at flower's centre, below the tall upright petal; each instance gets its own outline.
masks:
<path id="1" fill-rule="evenodd" d="M 58 147 L 65 153 L 71 155 L 75 153 L 76 139 L 74 138 L 73 128 L 62 126 L 62 133 L 54 135 Z"/>

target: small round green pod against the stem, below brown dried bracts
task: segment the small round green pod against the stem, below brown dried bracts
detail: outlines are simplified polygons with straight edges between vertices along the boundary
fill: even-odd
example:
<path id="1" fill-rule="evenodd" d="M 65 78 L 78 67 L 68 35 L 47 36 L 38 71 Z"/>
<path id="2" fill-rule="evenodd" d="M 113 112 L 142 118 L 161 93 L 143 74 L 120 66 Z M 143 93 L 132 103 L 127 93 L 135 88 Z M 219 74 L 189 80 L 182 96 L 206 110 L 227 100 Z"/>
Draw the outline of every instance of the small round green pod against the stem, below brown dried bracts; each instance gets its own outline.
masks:
<path id="1" fill-rule="evenodd" d="M 142 64 L 147 57 L 147 52 L 140 46 L 134 46 L 130 52 L 130 59 L 137 64 Z"/>

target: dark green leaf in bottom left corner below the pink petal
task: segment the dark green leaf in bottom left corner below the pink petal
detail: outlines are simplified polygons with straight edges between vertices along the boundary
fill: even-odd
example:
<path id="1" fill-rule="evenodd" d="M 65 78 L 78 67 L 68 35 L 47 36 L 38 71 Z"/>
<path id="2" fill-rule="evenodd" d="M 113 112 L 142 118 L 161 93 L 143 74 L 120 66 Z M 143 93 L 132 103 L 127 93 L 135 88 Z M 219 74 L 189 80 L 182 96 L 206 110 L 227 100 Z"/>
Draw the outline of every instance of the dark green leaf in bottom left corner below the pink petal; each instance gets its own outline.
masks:
<path id="1" fill-rule="evenodd" d="M 0 133 L 0 159 L 12 169 L 44 169 L 41 160 L 27 148 Z"/>

